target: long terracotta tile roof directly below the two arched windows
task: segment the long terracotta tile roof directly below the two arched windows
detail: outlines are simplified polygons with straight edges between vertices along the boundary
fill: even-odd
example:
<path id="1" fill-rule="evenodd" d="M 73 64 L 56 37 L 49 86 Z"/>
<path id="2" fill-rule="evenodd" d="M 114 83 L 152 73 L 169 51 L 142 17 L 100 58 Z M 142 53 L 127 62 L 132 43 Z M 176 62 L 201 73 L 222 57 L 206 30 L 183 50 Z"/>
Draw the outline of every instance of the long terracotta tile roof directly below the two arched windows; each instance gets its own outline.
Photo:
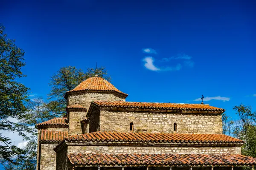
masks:
<path id="1" fill-rule="evenodd" d="M 119 133 L 93 132 L 69 136 L 67 140 L 113 141 L 113 142 L 167 142 L 167 143 L 243 143 L 223 134 L 180 134 L 180 133 Z"/>

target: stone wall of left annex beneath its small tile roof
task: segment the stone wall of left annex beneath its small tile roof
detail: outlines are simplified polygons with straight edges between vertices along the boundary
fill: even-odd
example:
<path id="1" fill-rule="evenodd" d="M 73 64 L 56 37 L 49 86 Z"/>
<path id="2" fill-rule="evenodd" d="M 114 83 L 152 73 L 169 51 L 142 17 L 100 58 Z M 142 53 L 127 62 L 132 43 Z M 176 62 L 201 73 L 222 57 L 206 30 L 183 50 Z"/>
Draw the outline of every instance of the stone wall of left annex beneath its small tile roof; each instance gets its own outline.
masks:
<path id="1" fill-rule="evenodd" d="M 40 170 L 56 169 L 56 153 L 53 148 L 57 144 L 41 144 Z"/>

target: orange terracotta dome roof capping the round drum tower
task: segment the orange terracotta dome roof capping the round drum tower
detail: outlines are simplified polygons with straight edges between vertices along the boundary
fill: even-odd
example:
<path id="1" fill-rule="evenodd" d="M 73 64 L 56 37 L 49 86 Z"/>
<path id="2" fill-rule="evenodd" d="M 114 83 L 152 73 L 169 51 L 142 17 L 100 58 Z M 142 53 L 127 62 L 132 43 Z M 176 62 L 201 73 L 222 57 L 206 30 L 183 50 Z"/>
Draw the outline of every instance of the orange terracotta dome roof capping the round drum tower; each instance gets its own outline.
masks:
<path id="1" fill-rule="evenodd" d="M 107 80 L 105 80 L 101 77 L 90 77 L 90 78 L 84 80 L 83 82 L 81 82 L 73 90 L 67 91 L 67 93 L 72 92 L 72 91 L 83 91 L 83 90 L 116 91 L 120 94 L 128 96 L 128 94 L 125 94 L 122 91 L 119 91 L 110 82 L 108 82 Z"/>

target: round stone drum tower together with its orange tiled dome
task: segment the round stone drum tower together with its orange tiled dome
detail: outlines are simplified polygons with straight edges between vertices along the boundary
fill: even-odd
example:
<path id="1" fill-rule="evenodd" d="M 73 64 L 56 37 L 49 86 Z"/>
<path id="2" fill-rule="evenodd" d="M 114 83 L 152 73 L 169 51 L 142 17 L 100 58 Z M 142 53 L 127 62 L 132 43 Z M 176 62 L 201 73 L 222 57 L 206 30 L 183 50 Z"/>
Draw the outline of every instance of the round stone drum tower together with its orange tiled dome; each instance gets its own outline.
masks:
<path id="1" fill-rule="evenodd" d="M 125 101 L 127 96 L 128 94 L 119 91 L 107 80 L 101 77 L 90 77 L 68 91 L 65 98 L 67 106 L 81 105 L 88 110 L 92 101 Z M 87 125 L 83 125 L 81 120 L 86 118 L 86 114 L 86 111 L 68 111 L 70 135 L 82 133 L 84 129 L 82 127 Z"/>

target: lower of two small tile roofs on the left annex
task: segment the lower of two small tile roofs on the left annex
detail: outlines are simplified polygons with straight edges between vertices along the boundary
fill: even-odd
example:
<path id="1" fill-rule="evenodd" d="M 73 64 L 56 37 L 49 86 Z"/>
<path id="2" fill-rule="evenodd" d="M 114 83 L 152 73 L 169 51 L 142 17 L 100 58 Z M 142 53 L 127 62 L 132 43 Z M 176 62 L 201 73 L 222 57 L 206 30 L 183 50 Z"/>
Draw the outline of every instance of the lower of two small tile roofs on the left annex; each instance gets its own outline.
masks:
<path id="1" fill-rule="evenodd" d="M 68 131 L 42 130 L 41 141 L 62 141 L 68 137 Z"/>

